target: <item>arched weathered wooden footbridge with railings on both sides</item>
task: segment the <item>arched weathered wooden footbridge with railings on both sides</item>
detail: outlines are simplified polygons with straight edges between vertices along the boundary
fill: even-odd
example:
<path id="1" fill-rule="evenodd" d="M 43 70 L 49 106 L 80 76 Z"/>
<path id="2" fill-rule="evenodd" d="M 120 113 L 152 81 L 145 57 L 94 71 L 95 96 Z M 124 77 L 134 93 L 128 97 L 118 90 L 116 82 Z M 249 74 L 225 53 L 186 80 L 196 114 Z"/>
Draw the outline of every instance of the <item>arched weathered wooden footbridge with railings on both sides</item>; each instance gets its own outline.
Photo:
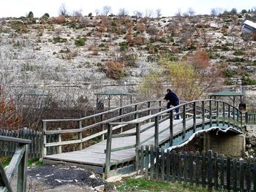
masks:
<path id="1" fill-rule="evenodd" d="M 198 131 L 243 131 L 245 113 L 224 101 L 190 101 L 177 107 L 178 114 L 176 107 L 165 110 L 162 101 L 143 101 L 85 118 L 43 120 L 43 159 L 91 166 L 109 177 L 138 169 L 135 149 L 140 145 L 166 149 Z M 181 119 L 175 120 L 177 115 Z"/>

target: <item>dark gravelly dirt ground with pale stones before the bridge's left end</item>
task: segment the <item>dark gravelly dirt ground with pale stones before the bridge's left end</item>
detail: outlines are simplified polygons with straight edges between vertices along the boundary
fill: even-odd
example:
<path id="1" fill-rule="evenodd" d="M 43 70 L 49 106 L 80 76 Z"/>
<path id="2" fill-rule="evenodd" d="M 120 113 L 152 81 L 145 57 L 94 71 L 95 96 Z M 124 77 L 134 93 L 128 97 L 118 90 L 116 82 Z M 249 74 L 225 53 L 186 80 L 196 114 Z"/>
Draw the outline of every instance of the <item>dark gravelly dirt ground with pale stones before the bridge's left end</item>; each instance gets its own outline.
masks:
<path id="1" fill-rule="evenodd" d="M 17 177 L 12 180 L 16 191 Z M 45 165 L 29 167 L 27 191 L 115 191 L 113 186 L 106 183 L 100 174 L 90 169 L 71 165 Z"/>

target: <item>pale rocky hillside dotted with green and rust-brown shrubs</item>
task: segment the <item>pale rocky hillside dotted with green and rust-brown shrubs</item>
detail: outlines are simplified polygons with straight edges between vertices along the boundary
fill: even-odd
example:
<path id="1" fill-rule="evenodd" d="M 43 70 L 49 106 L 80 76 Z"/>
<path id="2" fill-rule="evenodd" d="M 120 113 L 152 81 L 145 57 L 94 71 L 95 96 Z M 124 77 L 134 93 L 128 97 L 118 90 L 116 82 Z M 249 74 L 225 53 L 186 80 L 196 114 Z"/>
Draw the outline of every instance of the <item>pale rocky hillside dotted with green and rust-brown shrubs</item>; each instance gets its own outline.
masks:
<path id="1" fill-rule="evenodd" d="M 199 49 L 207 53 L 211 66 L 222 70 L 217 78 L 223 86 L 255 85 L 256 36 L 241 31 L 246 19 L 255 22 L 256 12 L 2 18 L 1 86 L 12 93 L 32 89 L 62 100 L 82 96 L 92 101 L 94 93 L 109 88 L 135 92 L 145 74 L 160 70 L 161 55 L 185 61 Z"/>

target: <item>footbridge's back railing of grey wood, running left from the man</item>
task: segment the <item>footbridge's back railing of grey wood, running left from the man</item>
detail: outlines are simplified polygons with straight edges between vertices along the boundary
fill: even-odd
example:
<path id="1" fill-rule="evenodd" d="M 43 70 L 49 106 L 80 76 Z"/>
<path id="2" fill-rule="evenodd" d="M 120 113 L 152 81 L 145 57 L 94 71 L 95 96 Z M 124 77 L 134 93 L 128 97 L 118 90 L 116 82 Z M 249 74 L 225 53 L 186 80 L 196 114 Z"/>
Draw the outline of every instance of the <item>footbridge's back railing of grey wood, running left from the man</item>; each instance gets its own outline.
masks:
<path id="1" fill-rule="evenodd" d="M 76 145 L 75 150 L 81 150 L 91 139 L 97 139 L 102 141 L 105 139 L 105 134 L 108 133 L 107 126 L 110 122 L 122 122 L 124 120 L 133 120 L 141 118 L 146 115 L 155 114 L 156 112 L 165 109 L 165 105 L 162 105 L 161 100 L 143 101 L 136 104 L 129 104 L 124 107 L 118 107 L 113 110 L 105 112 L 99 112 L 95 115 L 90 115 L 85 118 L 78 119 L 52 119 L 42 120 L 43 123 L 43 156 L 48 155 L 49 149 L 55 147 L 56 153 L 61 153 L 63 145 Z M 60 126 L 60 123 L 67 123 L 64 127 Z M 74 124 L 74 128 L 69 128 L 70 123 Z M 116 126 L 113 128 L 116 133 L 121 133 L 124 126 Z M 90 134 L 90 132 L 92 134 Z M 67 135 L 72 139 L 64 140 Z M 56 140 L 49 141 L 48 137 L 55 137 Z M 69 137 L 70 138 L 70 137 Z M 53 150 L 52 150 L 53 151 Z"/>

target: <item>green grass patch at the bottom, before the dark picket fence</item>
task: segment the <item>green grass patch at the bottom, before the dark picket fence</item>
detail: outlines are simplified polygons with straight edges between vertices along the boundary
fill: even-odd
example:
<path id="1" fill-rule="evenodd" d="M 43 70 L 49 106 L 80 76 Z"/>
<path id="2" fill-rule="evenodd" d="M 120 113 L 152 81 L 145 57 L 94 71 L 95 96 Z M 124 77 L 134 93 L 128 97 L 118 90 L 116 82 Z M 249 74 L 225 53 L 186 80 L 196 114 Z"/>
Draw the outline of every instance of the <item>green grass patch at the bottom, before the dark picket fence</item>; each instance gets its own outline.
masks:
<path id="1" fill-rule="evenodd" d="M 116 188 L 118 191 L 143 191 L 159 192 L 159 191 L 172 191 L 172 192 L 206 192 L 208 188 L 203 188 L 195 185 L 185 185 L 181 183 L 164 183 L 159 181 L 146 180 L 144 178 L 134 179 L 125 178 L 122 185 Z M 214 192 L 216 190 L 213 190 Z M 217 192 L 217 191 L 216 191 Z"/>

